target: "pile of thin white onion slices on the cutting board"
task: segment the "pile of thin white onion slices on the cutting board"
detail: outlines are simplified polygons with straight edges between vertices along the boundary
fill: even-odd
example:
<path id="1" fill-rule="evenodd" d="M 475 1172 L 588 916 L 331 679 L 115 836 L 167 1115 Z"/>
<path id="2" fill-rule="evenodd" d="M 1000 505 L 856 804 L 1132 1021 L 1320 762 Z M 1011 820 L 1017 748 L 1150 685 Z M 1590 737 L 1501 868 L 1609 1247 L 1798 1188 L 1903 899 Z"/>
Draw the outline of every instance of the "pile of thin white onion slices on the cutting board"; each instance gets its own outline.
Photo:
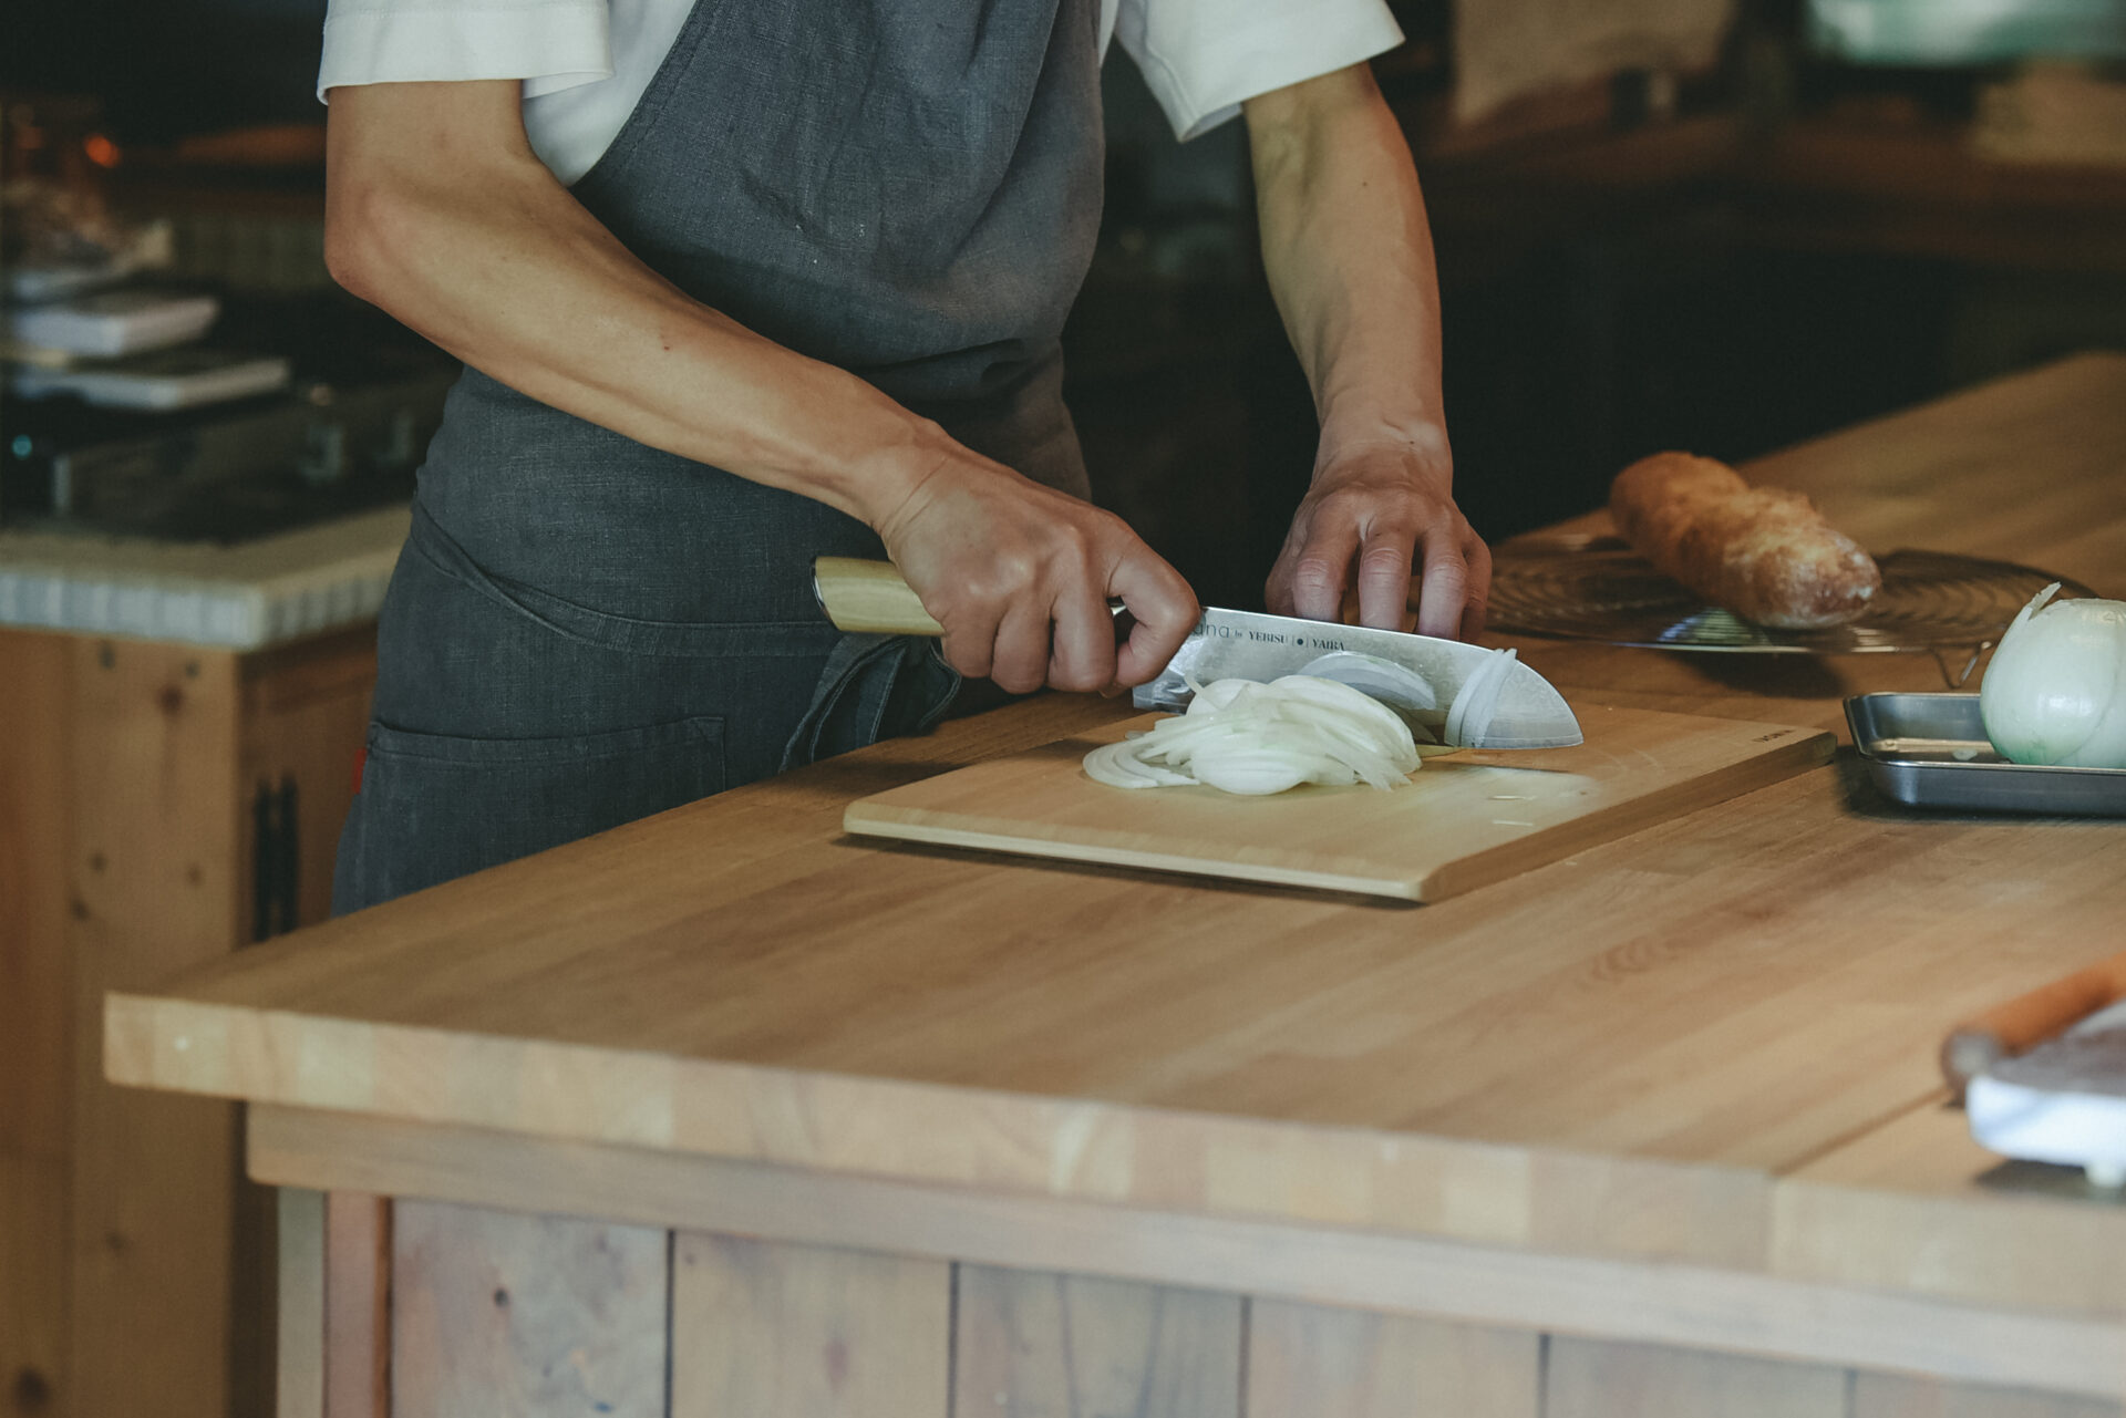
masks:
<path id="1" fill-rule="evenodd" d="M 1410 725 L 1348 685 L 1286 674 L 1191 689 L 1186 714 L 1095 748 L 1084 772 L 1118 789 L 1203 782 L 1256 795 L 1301 782 L 1393 789 L 1418 767 Z"/>

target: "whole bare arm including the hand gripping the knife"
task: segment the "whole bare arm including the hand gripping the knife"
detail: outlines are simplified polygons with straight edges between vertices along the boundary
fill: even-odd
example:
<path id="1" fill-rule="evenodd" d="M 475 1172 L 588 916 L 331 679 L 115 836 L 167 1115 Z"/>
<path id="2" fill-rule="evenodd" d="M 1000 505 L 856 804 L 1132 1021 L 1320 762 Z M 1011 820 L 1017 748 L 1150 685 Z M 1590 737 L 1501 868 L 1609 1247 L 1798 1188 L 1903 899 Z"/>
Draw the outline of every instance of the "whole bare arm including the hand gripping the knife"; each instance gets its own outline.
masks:
<path id="1" fill-rule="evenodd" d="M 1195 623 L 1186 583 L 1118 519 L 638 261 L 532 153 L 517 83 L 334 89 L 325 257 L 355 296 L 544 404 L 870 523 L 963 674 L 1137 685 Z M 1120 657 L 1108 595 L 1137 617 Z"/>

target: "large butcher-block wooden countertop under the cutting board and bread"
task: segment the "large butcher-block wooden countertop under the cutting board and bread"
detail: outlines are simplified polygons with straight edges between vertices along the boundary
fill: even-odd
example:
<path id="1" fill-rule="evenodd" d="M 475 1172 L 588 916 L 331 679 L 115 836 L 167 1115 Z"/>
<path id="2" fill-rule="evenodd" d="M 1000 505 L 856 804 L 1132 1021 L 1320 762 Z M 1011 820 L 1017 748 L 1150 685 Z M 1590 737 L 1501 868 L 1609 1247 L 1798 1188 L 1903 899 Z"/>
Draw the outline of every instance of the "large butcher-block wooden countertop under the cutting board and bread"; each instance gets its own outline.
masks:
<path id="1" fill-rule="evenodd" d="M 2126 593 L 2126 357 L 1750 468 L 1875 548 Z M 1575 702 L 1839 725 L 1920 657 L 1524 642 Z M 2126 1314 L 2126 1205 L 1943 1108 L 1960 1016 L 2117 950 L 2126 823 L 1850 755 L 1424 908 L 840 833 L 1129 712 L 1044 697 L 115 995 L 115 1080 L 1165 1212 Z"/>

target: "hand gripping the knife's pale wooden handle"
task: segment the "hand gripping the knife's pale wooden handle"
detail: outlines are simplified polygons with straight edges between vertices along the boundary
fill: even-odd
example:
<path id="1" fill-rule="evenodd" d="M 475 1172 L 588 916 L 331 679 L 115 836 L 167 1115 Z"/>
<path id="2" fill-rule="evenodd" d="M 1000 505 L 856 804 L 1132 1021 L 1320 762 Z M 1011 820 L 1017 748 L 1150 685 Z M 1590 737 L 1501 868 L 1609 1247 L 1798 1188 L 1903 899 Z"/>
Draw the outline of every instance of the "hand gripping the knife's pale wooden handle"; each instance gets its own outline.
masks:
<path id="1" fill-rule="evenodd" d="M 944 625 L 946 663 L 1012 693 L 1144 685 L 1201 614 L 1120 517 L 957 444 L 874 525 Z M 1120 646 L 1110 595 L 1135 619 Z"/>

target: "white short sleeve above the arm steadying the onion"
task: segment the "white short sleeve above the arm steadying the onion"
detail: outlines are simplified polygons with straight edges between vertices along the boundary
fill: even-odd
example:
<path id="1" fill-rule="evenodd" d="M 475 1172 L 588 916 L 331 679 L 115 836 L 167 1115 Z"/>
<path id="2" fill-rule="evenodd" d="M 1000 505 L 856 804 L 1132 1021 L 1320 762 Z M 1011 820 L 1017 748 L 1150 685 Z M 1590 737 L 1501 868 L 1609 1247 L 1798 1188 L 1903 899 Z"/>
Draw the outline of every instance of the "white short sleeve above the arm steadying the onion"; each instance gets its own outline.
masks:
<path id="1" fill-rule="evenodd" d="M 1239 104 L 1395 49 L 1386 0 L 1120 0 L 1114 38 L 1182 140 Z"/>

